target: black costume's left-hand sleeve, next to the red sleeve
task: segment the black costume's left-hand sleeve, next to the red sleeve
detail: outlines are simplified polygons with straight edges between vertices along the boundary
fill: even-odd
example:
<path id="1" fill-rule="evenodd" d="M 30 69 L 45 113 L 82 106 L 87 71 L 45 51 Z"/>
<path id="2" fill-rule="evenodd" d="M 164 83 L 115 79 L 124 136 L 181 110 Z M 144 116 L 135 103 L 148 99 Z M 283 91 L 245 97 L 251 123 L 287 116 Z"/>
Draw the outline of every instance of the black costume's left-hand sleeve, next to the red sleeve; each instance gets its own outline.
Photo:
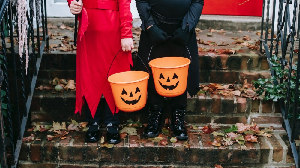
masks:
<path id="1" fill-rule="evenodd" d="M 142 20 L 141 28 L 145 31 L 147 27 L 155 25 L 153 14 L 149 12 L 151 9 L 149 0 L 135 0 L 135 3 L 137 4 L 137 11 Z"/>

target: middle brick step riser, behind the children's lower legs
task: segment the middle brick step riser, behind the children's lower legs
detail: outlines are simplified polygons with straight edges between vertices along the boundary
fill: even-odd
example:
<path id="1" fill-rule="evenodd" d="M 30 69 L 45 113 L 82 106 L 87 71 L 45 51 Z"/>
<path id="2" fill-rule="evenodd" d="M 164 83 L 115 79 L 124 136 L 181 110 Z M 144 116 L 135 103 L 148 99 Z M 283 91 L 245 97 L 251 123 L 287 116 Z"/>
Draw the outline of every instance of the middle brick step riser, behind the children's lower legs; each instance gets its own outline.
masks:
<path id="1" fill-rule="evenodd" d="M 82 116 L 74 114 L 75 91 L 52 93 L 53 90 L 35 90 L 31 105 L 32 122 L 52 122 L 76 119 L 84 121 L 85 110 Z M 165 99 L 167 107 L 170 101 Z M 220 123 L 235 124 L 236 122 L 254 122 L 258 124 L 282 124 L 280 108 L 273 101 L 253 100 L 240 96 L 223 97 L 221 95 L 206 93 L 187 98 L 188 123 Z M 170 114 L 170 108 L 167 108 Z M 141 122 L 147 122 L 147 105 L 140 111 L 124 113 L 122 119 L 133 118 Z"/>

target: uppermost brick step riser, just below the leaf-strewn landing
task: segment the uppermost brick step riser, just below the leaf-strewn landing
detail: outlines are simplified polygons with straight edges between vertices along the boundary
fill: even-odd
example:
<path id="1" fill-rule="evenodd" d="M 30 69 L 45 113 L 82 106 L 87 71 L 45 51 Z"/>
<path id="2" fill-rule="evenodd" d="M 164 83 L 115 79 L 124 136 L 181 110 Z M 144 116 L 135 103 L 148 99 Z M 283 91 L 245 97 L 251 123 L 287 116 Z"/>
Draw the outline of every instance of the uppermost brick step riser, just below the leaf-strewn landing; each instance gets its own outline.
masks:
<path id="1" fill-rule="evenodd" d="M 134 62 L 136 57 L 133 56 Z M 239 81 L 242 73 L 251 72 L 253 75 L 269 72 L 268 61 L 265 56 L 254 53 L 241 53 L 235 55 L 219 54 L 214 52 L 199 52 L 199 64 L 201 74 L 200 82 L 216 81 L 214 73 L 233 73 L 235 81 Z M 238 73 L 238 74 L 237 74 Z M 43 55 L 39 78 L 53 79 L 76 77 L 76 51 L 49 51 Z M 230 83 L 230 82 L 228 82 Z"/>

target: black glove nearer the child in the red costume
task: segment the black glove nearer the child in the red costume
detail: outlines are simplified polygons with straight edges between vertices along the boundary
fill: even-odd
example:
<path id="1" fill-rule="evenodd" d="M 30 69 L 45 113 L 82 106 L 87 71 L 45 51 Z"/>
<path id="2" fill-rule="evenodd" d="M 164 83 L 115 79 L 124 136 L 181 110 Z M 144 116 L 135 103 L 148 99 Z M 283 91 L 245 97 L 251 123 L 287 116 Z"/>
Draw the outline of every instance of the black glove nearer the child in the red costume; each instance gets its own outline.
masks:
<path id="1" fill-rule="evenodd" d="M 164 43 L 168 39 L 168 34 L 159 29 L 156 25 L 153 25 L 147 29 L 147 32 L 149 34 L 150 41 L 154 46 Z"/>

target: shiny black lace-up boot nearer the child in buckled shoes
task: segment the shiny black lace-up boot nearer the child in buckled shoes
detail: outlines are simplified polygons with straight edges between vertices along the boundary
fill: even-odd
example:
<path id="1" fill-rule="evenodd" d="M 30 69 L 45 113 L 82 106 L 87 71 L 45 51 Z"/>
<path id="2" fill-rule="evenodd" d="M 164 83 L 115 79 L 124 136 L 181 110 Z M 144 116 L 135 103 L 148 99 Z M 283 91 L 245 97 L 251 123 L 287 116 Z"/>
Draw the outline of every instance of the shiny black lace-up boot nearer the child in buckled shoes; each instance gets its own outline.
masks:
<path id="1" fill-rule="evenodd" d="M 159 130 L 162 127 L 162 119 L 163 119 L 163 113 L 165 108 L 164 107 L 158 107 L 150 106 L 149 107 L 149 117 L 148 117 L 148 125 L 145 128 L 143 134 L 146 137 L 157 137 Z"/>

